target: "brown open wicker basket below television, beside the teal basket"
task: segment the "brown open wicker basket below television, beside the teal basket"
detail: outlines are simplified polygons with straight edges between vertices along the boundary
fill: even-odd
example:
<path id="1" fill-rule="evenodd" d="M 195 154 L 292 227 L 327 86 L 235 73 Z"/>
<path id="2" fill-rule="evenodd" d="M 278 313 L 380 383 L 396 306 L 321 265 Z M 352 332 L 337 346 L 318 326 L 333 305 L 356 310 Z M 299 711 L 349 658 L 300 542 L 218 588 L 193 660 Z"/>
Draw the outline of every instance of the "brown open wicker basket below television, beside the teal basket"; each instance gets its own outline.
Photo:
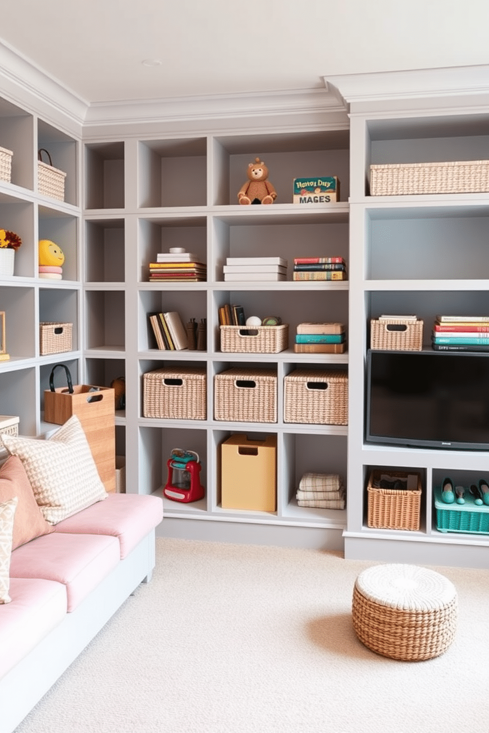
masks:
<path id="1" fill-rule="evenodd" d="M 392 479 L 406 480 L 416 476 L 416 489 L 389 489 L 376 486 L 384 474 Z M 380 471 L 370 473 L 367 485 L 369 527 L 383 529 L 419 530 L 419 510 L 421 507 L 421 474 L 416 471 Z"/>

